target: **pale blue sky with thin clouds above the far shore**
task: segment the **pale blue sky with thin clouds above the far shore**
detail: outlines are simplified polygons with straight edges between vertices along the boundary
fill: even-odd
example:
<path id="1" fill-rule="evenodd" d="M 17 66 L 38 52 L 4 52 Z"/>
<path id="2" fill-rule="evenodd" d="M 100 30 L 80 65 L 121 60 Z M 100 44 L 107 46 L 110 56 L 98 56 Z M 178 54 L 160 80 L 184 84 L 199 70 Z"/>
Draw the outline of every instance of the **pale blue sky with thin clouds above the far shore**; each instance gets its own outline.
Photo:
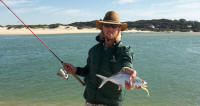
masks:
<path id="1" fill-rule="evenodd" d="M 109 10 L 124 21 L 200 21 L 200 0 L 4 0 L 26 24 L 69 24 L 102 19 Z M 0 25 L 21 24 L 0 3 Z"/>

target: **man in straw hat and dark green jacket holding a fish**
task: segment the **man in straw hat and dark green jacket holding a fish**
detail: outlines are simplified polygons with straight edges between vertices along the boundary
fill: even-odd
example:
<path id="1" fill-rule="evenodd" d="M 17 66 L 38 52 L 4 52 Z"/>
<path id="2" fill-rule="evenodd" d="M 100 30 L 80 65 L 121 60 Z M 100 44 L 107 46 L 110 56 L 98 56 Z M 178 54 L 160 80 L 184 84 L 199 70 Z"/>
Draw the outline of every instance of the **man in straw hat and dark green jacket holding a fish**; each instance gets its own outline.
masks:
<path id="1" fill-rule="evenodd" d="M 69 74 L 84 77 L 85 106 L 120 106 L 122 90 L 111 82 L 98 88 L 102 80 L 96 74 L 110 77 L 122 68 L 129 67 L 125 72 L 130 74 L 130 80 L 125 81 L 125 88 L 133 88 L 131 80 L 136 77 L 136 71 L 133 69 L 133 50 L 121 41 L 121 31 L 127 28 L 127 24 L 120 22 L 118 13 L 108 11 L 103 21 L 96 21 L 96 27 L 101 32 L 96 37 L 98 43 L 89 50 L 86 66 L 74 67 L 69 63 L 63 63 L 63 67 Z"/>

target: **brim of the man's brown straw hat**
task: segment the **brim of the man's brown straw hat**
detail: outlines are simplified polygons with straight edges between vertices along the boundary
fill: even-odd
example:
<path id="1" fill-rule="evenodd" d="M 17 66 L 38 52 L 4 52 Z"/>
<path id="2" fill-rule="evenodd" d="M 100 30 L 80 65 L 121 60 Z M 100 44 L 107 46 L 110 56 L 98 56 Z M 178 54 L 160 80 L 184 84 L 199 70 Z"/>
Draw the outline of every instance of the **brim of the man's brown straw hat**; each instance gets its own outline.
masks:
<path id="1" fill-rule="evenodd" d="M 102 30 L 102 26 L 103 26 L 104 23 L 105 24 L 118 24 L 121 27 L 121 31 L 124 31 L 127 28 L 127 24 L 126 23 L 115 23 L 115 22 L 99 21 L 99 20 L 96 20 L 96 27 Z"/>

